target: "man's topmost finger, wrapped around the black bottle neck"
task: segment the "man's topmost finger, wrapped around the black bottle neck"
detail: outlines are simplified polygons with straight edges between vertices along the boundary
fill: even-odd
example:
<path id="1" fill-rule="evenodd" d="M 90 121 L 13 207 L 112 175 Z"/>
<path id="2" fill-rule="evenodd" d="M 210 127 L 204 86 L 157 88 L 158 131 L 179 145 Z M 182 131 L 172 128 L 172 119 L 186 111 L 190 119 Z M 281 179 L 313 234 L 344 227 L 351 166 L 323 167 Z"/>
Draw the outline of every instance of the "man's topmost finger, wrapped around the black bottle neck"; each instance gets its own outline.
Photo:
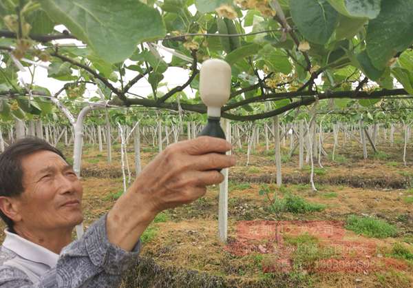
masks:
<path id="1" fill-rule="evenodd" d="M 184 152 L 190 155 L 202 155 L 207 153 L 225 153 L 231 150 L 231 143 L 221 138 L 211 136 L 200 136 L 198 138 L 184 141 Z"/>

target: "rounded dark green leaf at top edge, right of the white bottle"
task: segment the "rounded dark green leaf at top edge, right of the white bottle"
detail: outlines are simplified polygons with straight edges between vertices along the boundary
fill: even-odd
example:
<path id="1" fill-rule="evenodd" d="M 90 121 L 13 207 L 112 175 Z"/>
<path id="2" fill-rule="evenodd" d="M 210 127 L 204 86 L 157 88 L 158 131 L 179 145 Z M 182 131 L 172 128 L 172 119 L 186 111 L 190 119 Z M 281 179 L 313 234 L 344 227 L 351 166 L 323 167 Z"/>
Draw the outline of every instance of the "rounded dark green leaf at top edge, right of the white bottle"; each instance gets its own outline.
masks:
<path id="1" fill-rule="evenodd" d="M 304 38 L 317 44 L 327 43 L 339 15 L 327 0 L 290 0 L 290 12 Z"/>

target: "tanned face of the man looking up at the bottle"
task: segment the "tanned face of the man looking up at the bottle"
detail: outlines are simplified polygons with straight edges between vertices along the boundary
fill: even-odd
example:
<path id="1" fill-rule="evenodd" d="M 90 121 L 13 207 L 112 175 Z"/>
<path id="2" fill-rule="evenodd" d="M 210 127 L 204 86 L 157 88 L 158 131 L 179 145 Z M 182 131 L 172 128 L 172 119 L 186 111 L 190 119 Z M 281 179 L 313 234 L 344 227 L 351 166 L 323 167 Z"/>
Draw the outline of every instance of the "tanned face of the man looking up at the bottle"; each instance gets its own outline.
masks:
<path id="1" fill-rule="evenodd" d="M 21 159 L 21 167 L 24 192 L 19 196 L 19 214 L 25 229 L 73 228 L 82 222 L 83 188 L 61 156 L 35 152 Z"/>

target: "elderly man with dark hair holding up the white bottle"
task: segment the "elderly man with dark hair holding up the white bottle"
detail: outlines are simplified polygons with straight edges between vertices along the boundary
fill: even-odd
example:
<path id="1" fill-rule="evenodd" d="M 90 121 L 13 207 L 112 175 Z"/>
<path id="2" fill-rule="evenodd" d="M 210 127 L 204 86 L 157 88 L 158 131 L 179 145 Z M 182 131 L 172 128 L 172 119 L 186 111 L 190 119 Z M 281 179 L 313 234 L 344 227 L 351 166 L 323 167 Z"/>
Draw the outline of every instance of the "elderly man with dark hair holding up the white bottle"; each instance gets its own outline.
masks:
<path id="1" fill-rule="evenodd" d="M 0 155 L 0 287 L 118 287 L 136 264 L 140 235 L 162 210 L 203 196 L 235 165 L 231 145 L 200 137 L 167 147 L 114 207 L 72 242 L 83 220 L 82 185 L 63 154 L 26 138 Z"/>

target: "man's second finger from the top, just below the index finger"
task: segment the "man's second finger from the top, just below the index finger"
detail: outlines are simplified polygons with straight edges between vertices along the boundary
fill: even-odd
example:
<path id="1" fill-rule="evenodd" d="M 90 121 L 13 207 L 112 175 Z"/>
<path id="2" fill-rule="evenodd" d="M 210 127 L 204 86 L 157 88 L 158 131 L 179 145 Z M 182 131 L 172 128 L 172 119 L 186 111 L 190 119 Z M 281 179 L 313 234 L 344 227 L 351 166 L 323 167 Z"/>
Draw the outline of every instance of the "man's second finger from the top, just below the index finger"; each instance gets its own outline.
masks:
<path id="1" fill-rule="evenodd" d="M 194 159 L 193 169 L 198 171 L 228 168 L 236 163 L 235 156 L 219 153 L 209 153 L 191 157 Z"/>

